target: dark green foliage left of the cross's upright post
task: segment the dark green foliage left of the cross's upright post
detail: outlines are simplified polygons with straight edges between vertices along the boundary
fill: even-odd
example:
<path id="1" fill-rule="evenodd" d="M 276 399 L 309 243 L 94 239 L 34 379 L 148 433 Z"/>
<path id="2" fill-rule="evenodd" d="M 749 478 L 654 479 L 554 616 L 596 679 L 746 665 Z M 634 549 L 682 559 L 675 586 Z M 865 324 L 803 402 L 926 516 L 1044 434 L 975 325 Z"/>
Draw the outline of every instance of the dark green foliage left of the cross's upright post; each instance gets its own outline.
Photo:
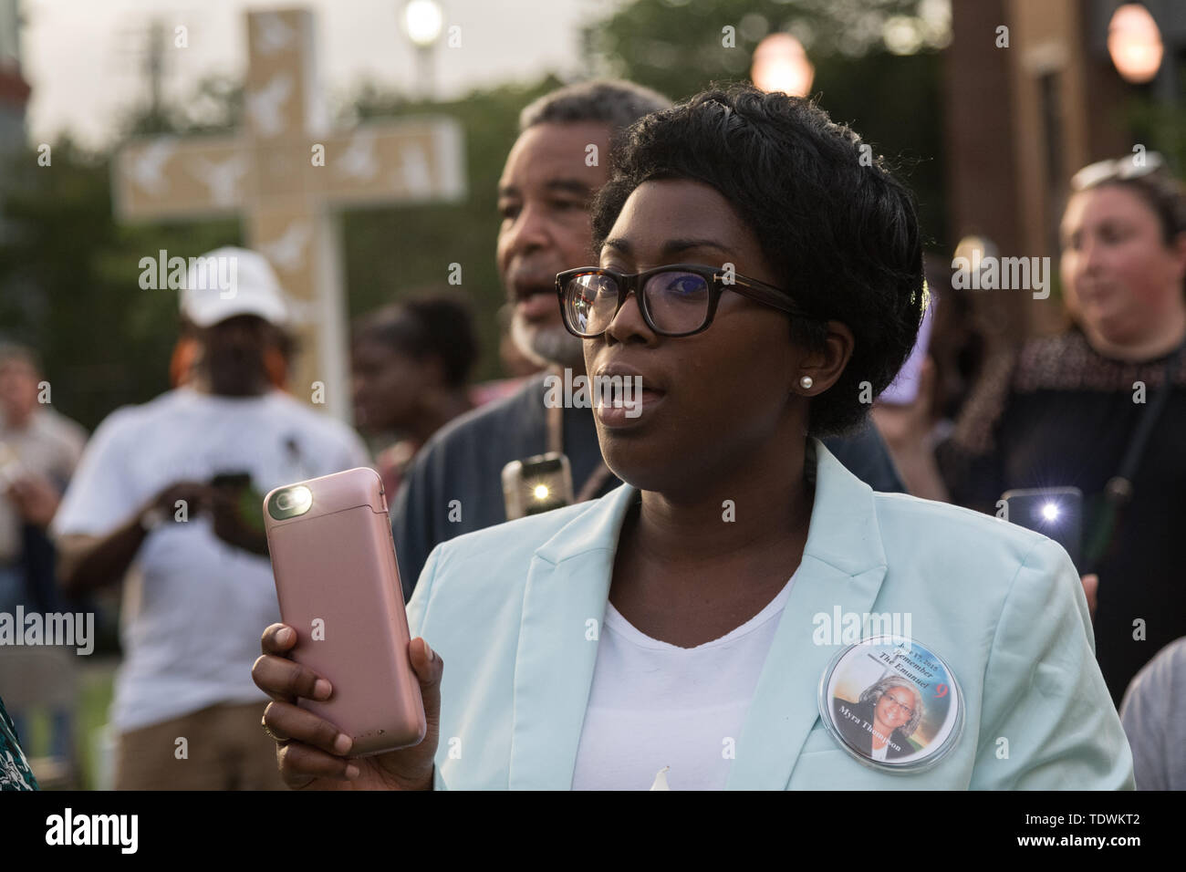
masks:
<path id="1" fill-rule="evenodd" d="M 6 158 L 17 182 L 0 234 L 0 335 L 42 356 L 55 406 L 94 428 L 128 402 L 168 387 L 177 292 L 141 289 L 139 260 L 161 248 L 187 256 L 238 238 L 237 222 L 120 225 L 109 155 L 69 139 Z"/>

